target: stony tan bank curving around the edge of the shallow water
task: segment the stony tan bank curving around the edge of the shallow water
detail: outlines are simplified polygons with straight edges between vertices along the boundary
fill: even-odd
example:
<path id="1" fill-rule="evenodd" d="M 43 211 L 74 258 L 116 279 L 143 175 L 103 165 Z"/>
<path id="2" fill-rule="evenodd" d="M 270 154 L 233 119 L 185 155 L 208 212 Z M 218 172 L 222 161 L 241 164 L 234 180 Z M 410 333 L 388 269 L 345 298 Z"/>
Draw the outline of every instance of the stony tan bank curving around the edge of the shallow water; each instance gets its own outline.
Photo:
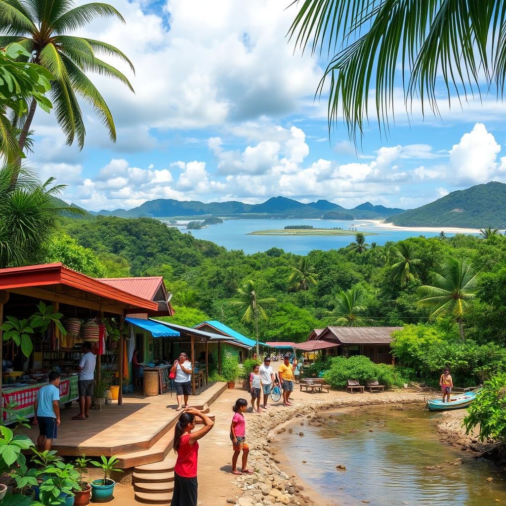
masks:
<path id="1" fill-rule="evenodd" d="M 306 420 L 318 416 L 323 410 L 346 407 L 365 407 L 381 404 L 423 403 L 424 395 L 418 391 L 390 391 L 384 394 L 345 394 L 331 392 L 331 399 L 311 396 L 311 400 L 291 407 L 273 407 L 268 414 L 252 415 L 247 419 L 247 441 L 250 447 L 248 467 L 254 475 L 238 476 L 234 480 L 238 491 L 227 503 L 235 506 L 325 506 L 325 500 L 313 490 L 308 490 L 296 476 L 288 476 L 280 469 L 271 443 L 275 433 L 283 432 L 283 425 L 293 418 Z M 296 401 L 297 398 L 296 398 Z M 274 434 L 272 434 L 274 431 Z M 308 494 L 308 495 L 307 495 Z"/>

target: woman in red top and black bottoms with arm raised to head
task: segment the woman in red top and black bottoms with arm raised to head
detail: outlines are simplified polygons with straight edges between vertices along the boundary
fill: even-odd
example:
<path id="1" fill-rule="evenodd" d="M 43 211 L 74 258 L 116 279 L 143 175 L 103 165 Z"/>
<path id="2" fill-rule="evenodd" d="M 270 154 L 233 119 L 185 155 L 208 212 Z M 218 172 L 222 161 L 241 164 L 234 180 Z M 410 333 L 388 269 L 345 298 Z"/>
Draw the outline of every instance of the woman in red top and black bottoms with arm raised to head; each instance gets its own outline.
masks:
<path id="1" fill-rule="evenodd" d="M 202 419 L 204 427 L 196 432 L 195 416 Z M 174 451 L 178 454 L 174 466 L 174 492 L 172 506 L 197 506 L 198 440 L 215 425 L 214 421 L 198 409 L 187 408 L 179 417 L 174 432 Z"/>

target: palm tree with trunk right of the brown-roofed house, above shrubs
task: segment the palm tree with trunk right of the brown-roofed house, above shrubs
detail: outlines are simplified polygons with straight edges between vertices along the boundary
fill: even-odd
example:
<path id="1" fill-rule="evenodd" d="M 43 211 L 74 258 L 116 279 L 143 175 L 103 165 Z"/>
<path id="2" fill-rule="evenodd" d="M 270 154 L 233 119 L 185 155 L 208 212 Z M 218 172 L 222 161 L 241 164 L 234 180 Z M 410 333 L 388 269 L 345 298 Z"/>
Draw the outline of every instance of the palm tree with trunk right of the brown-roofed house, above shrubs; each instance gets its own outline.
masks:
<path id="1" fill-rule="evenodd" d="M 432 272 L 432 285 L 420 286 L 418 294 L 420 306 L 434 306 L 430 318 L 453 314 L 460 337 L 464 339 L 463 316 L 469 301 L 475 298 L 477 274 L 467 260 L 449 258 L 441 266 L 441 272 Z"/>

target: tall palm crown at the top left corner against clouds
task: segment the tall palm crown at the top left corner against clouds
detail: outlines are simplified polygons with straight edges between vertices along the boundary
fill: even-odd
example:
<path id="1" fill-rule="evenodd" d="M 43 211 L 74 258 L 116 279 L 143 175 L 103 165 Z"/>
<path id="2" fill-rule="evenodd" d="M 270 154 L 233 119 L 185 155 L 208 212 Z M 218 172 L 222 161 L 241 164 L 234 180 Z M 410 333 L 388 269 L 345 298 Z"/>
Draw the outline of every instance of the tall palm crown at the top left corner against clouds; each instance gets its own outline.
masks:
<path id="1" fill-rule="evenodd" d="M 49 95 L 56 120 L 66 135 L 67 144 L 72 144 L 77 137 L 79 148 L 85 142 L 86 130 L 76 95 L 94 109 L 109 131 L 110 139 L 116 140 L 112 114 L 85 72 L 113 77 L 134 91 L 119 70 L 97 57 L 118 57 L 134 71 L 132 62 L 119 49 L 100 40 L 67 35 L 96 18 L 110 16 L 124 23 L 121 14 L 108 4 L 75 7 L 72 0 L 0 0 L 0 47 L 20 44 L 31 54 L 31 62 L 53 74 Z M 37 101 L 31 100 L 19 137 L 20 148 L 24 147 L 36 107 Z"/>

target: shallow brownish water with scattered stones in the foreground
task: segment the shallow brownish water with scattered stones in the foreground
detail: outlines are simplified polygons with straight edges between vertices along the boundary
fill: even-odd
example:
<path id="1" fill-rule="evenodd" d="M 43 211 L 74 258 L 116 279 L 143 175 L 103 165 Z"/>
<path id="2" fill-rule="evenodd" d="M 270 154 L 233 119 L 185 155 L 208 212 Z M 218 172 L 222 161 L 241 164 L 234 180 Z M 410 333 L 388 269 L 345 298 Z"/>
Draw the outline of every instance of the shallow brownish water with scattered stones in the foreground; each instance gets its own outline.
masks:
<path id="1" fill-rule="evenodd" d="M 405 405 L 402 411 L 390 405 L 329 414 L 330 418 L 323 417 L 328 423 L 322 427 L 297 418 L 287 426 L 293 433 L 276 435 L 273 444 L 281 446 L 287 459 L 281 458 L 282 462 L 290 462 L 292 467 L 287 471 L 300 476 L 332 503 L 506 504 L 503 469 L 441 443 L 435 429 L 440 414 L 417 405 Z M 346 471 L 336 469 L 338 465 Z M 489 477 L 493 481 L 487 482 Z"/>

